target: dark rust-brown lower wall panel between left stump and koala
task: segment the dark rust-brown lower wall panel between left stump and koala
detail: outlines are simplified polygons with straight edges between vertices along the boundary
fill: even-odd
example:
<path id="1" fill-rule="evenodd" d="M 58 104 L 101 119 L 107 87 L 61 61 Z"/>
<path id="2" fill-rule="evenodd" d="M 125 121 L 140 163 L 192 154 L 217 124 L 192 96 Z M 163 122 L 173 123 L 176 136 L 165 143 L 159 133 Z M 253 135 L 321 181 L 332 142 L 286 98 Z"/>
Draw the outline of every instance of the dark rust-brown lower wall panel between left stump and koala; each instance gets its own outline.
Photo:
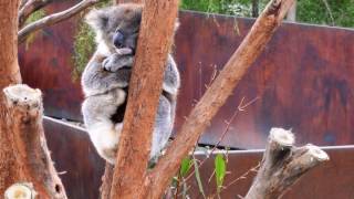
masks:
<path id="1" fill-rule="evenodd" d="M 97 199 L 104 160 L 82 129 L 44 118 L 44 132 L 55 168 L 72 199 Z"/>

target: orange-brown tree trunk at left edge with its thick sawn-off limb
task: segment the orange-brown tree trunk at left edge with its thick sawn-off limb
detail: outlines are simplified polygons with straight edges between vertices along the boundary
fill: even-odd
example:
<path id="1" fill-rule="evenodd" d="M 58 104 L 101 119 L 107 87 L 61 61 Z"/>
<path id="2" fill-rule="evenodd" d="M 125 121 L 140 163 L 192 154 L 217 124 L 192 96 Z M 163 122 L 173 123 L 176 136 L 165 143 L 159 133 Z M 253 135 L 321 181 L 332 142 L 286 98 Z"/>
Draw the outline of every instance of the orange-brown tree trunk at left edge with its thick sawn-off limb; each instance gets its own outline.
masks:
<path id="1" fill-rule="evenodd" d="M 11 185 L 28 181 L 41 198 L 66 198 L 46 148 L 40 92 L 7 87 L 21 82 L 18 8 L 19 0 L 0 1 L 0 196 Z"/>

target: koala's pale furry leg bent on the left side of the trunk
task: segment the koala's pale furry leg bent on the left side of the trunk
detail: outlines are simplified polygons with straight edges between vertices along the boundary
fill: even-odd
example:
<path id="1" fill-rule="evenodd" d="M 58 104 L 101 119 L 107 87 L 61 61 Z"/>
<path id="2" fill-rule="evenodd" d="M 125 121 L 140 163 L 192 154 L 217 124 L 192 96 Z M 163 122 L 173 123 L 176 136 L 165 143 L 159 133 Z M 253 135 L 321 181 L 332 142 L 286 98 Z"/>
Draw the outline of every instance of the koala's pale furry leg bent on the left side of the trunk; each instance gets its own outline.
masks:
<path id="1" fill-rule="evenodd" d="M 111 117 L 124 103 L 125 95 L 123 90 L 116 88 L 108 94 L 87 97 L 82 106 L 90 138 L 98 155 L 111 164 L 115 163 L 122 129 L 122 124 L 114 124 Z"/>

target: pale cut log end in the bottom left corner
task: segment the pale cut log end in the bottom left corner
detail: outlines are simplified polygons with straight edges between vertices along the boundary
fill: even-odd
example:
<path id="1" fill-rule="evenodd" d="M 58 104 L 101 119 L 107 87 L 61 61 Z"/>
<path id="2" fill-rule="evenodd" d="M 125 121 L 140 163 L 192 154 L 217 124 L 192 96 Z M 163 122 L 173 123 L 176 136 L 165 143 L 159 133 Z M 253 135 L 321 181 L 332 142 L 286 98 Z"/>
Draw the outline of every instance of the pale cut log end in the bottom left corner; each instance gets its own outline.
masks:
<path id="1" fill-rule="evenodd" d="M 33 185 L 28 182 L 14 184 L 4 192 L 4 199 L 34 199 L 35 196 Z"/>

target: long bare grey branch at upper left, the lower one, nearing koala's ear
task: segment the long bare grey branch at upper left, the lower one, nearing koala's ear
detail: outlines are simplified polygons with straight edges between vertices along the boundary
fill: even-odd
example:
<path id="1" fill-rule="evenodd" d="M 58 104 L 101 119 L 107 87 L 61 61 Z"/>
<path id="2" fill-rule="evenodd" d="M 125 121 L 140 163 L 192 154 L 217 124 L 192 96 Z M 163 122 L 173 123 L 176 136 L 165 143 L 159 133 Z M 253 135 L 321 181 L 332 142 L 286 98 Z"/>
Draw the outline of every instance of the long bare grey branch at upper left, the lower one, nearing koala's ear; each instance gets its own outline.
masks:
<path id="1" fill-rule="evenodd" d="M 25 25 L 18 33 L 19 43 L 22 43 L 31 32 L 34 32 L 37 30 L 44 28 L 44 27 L 52 25 L 52 24 L 55 24 L 55 23 L 61 22 L 63 20 L 66 20 L 69 18 L 72 18 L 73 15 L 75 15 L 75 14 L 80 13 L 81 11 L 85 10 L 86 8 L 97 3 L 98 1 L 100 0 L 83 0 L 80 3 L 75 4 L 74 7 L 72 7 L 67 10 L 48 15 L 48 17 L 40 19 L 31 24 Z"/>

